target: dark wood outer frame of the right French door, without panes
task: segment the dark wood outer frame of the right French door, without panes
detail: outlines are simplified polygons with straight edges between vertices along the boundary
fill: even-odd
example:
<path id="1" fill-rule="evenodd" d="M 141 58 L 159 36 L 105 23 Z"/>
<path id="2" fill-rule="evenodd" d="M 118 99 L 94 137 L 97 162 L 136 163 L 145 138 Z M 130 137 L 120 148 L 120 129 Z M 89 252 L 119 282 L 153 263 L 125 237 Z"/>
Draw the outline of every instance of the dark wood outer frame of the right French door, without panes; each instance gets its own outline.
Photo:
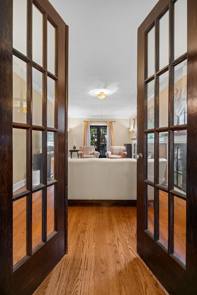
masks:
<path id="1" fill-rule="evenodd" d="M 144 73 L 145 73 L 145 32 L 153 24 L 153 19 L 159 17 L 166 7 L 172 5 L 172 0 L 159 0 L 153 10 L 138 28 L 138 71 L 137 71 L 137 117 L 138 117 L 138 153 L 144 154 Z M 171 13 L 172 10 L 171 10 Z M 156 17 L 155 17 L 156 16 Z M 197 149 L 197 2 L 187 0 L 187 230 L 186 230 L 186 267 L 185 269 L 175 261 L 171 261 L 169 273 L 163 272 L 164 266 L 171 258 L 162 248 L 155 252 L 154 240 L 144 234 L 146 203 L 144 198 L 144 159 L 137 161 L 137 252 L 145 261 L 151 271 L 163 284 L 170 294 L 195 294 L 197 290 L 197 161 L 195 151 Z M 170 23 L 170 26 L 172 24 Z M 156 32 L 157 34 L 158 32 Z M 170 49 L 171 49 L 170 38 Z M 158 44 L 155 51 L 158 52 Z M 146 151 L 146 149 L 145 149 Z M 171 204 L 172 205 L 172 204 Z M 171 206 L 170 205 L 170 206 Z M 169 210 L 170 218 L 170 210 Z M 169 229 L 170 230 L 170 229 Z M 150 246 L 148 246 L 150 243 Z M 147 249 L 148 248 L 148 249 Z M 162 253 L 162 258 L 161 258 Z M 174 273 L 170 275 L 170 271 Z M 179 280 L 177 280 L 177 277 Z M 183 280 L 183 284 L 179 284 Z"/>

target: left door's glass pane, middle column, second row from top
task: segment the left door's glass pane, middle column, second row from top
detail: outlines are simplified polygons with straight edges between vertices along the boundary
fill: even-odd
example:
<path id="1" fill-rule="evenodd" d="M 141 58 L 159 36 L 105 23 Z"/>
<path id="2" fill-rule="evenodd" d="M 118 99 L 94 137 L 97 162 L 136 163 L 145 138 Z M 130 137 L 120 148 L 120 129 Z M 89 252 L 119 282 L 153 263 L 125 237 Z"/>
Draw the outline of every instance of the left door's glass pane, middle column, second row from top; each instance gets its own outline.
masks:
<path id="1" fill-rule="evenodd" d="M 32 124 L 42 126 L 42 73 L 32 69 Z"/>

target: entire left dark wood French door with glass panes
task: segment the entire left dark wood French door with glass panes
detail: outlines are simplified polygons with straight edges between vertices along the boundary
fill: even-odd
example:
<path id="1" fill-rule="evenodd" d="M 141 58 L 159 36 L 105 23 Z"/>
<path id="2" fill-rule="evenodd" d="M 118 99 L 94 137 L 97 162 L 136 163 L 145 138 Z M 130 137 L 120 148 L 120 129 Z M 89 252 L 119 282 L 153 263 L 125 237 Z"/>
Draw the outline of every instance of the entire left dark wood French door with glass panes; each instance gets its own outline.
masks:
<path id="1" fill-rule="evenodd" d="M 27 295 L 67 253 L 68 27 L 47 0 L 0 11 L 0 293 Z"/>

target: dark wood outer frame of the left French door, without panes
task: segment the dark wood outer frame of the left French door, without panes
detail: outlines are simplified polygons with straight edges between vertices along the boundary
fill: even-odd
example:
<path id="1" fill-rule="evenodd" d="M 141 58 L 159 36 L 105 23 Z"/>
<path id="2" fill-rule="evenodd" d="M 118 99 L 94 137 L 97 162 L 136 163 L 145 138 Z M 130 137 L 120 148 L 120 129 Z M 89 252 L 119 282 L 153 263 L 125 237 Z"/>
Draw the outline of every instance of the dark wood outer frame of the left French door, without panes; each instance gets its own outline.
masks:
<path id="1" fill-rule="evenodd" d="M 28 0 L 28 6 L 32 0 Z M 0 293 L 32 294 L 59 260 L 67 253 L 67 113 L 68 113 L 68 26 L 57 14 L 48 0 L 39 0 L 39 5 L 49 17 L 61 26 L 58 30 L 58 150 L 56 171 L 58 188 L 56 214 L 61 216 L 58 231 L 34 253 L 34 261 L 26 262 L 13 272 L 13 147 L 12 147 L 12 100 L 13 100 L 13 0 L 0 1 Z M 64 25 L 62 26 L 62 24 Z M 28 26 L 29 24 L 27 24 Z M 65 43 L 62 42 L 65 40 Z M 65 55 L 66 52 L 66 55 Z M 64 63 L 65 66 L 60 66 Z M 59 176 L 58 176 L 59 175 Z M 61 175 L 61 177 L 60 177 Z M 62 197 L 63 194 L 63 197 Z M 61 236 L 61 238 L 60 238 Z M 64 237 L 62 239 L 62 237 Z M 55 249 L 52 247 L 55 246 Z M 47 259 L 51 255 L 51 259 Z M 40 261 L 44 263 L 40 263 Z M 33 263 L 32 263 L 33 262 Z M 27 277 L 32 279 L 28 281 Z M 27 293 L 28 292 L 28 293 Z"/>

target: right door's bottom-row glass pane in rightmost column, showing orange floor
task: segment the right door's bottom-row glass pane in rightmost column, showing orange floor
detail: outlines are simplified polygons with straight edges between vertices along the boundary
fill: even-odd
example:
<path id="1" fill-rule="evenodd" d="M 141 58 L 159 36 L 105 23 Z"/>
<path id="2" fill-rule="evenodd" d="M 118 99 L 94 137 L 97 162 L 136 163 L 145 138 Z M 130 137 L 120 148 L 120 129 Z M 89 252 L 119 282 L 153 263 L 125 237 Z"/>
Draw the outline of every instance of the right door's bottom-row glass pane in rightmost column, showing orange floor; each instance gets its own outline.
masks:
<path id="1" fill-rule="evenodd" d="M 186 261 L 186 201 L 174 196 L 174 254 Z"/>

